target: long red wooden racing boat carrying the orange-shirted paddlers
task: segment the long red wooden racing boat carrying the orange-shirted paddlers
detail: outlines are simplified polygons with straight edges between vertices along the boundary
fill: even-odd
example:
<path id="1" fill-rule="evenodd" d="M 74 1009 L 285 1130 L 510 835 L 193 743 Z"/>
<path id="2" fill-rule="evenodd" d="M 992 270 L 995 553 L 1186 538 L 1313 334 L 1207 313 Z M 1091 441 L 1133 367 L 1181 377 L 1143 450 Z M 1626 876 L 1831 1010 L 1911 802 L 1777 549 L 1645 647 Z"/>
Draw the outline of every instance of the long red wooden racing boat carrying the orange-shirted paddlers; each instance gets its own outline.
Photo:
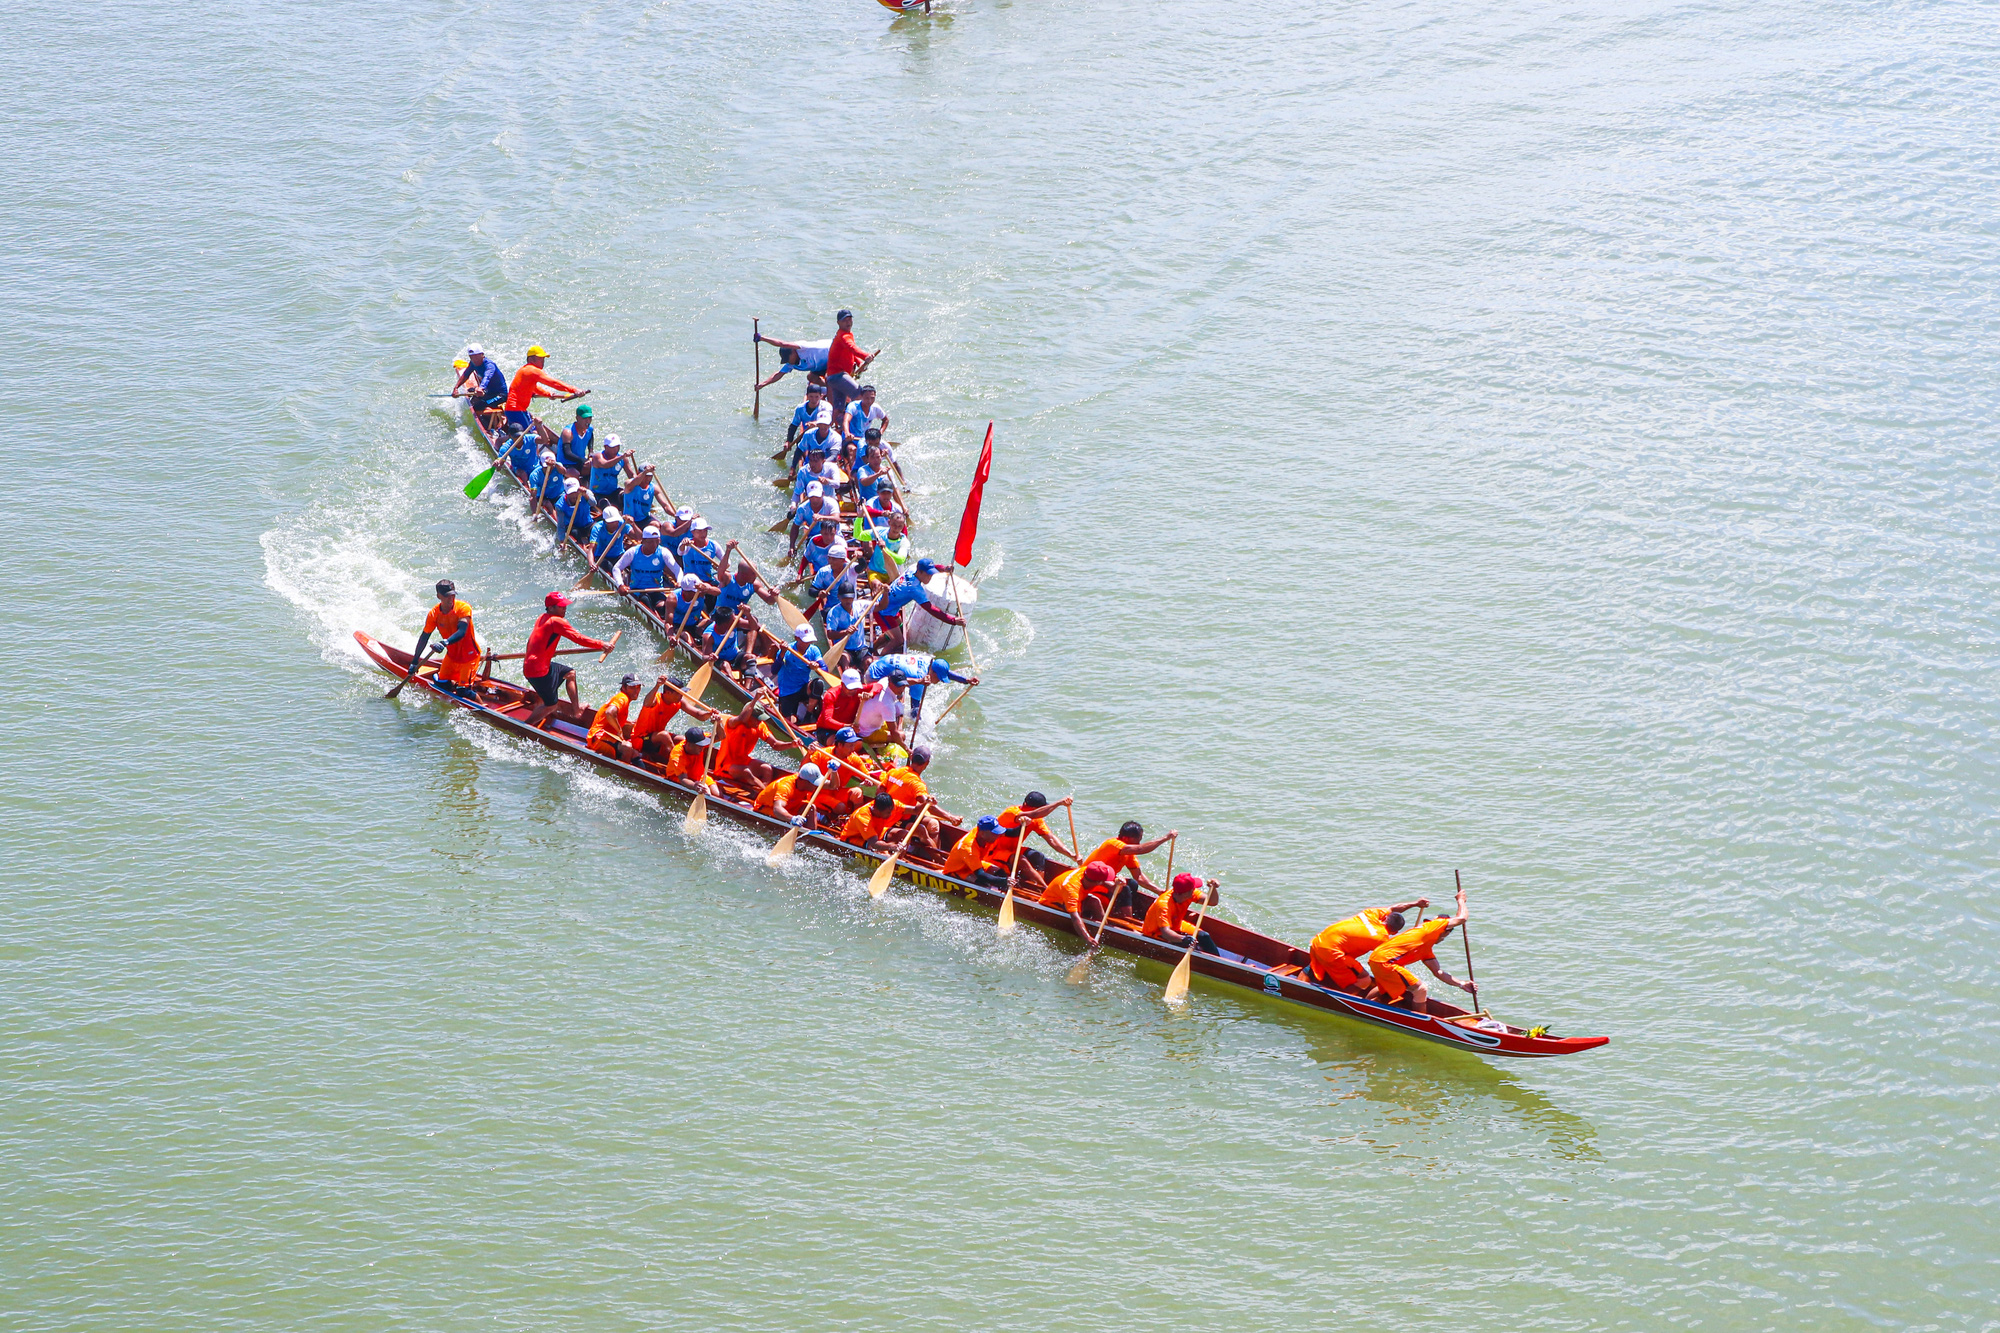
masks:
<path id="1" fill-rule="evenodd" d="M 354 640 L 384 673 L 402 679 L 404 673 L 410 671 L 410 652 L 394 648 L 360 630 L 354 632 Z M 674 783 L 650 769 L 598 755 L 584 745 L 582 727 L 566 721 L 552 723 L 546 731 L 528 727 L 526 717 L 534 703 L 534 695 L 522 685 L 512 685 L 508 681 L 482 681 L 470 697 L 462 697 L 452 691 L 438 689 L 432 677 L 434 666 L 424 666 L 416 675 L 416 685 L 424 687 L 452 707 L 472 713 L 482 723 L 488 723 L 498 731 L 520 737 L 522 741 L 532 741 L 550 751 L 582 759 L 584 763 L 616 773 L 618 777 L 652 791 L 670 793 L 682 799 L 692 799 L 696 795 L 694 787 Z M 708 809 L 772 837 L 782 837 L 792 827 L 782 819 L 760 815 L 750 809 L 748 803 L 728 797 L 710 795 Z M 874 871 L 886 859 L 878 853 L 842 843 L 828 833 L 806 833 L 800 837 L 798 845 L 814 847 L 842 861 L 850 861 L 862 873 Z M 914 853 L 904 853 L 904 859 L 896 865 L 896 877 L 934 893 L 962 897 L 992 909 L 1000 907 L 1000 899 L 1004 897 L 1000 891 L 942 875 L 936 865 L 938 863 L 926 863 Z M 1140 893 L 1140 899 L 1150 905 L 1150 895 L 1144 891 Z M 1046 927 L 1058 937 L 1074 939 L 1068 913 L 1042 907 L 1032 897 L 1022 895 L 1016 895 L 1014 911 L 1022 921 Z M 1182 959 L 1180 949 L 1140 935 L 1138 925 L 1138 921 L 1114 917 L 1104 931 L 1104 947 L 1136 959 L 1160 963 L 1164 967 L 1172 967 Z M 1328 991 L 1304 979 L 1304 949 L 1218 917 L 1208 917 L 1204 927 L 1222 953 L 1196 953 L 1192 959 L 1196 975 L 1238 991 L 1252 991 L 1286 1005 L 1358 1019 L 1376 1027 L 1390 1027 L 1410 1033 L 1412 1037 L 1424 1037 L 1426 1041 L 1458 1047 L 1460 1051 L 1472 1051 L 1474 1055 L 1540 1059 L 1550 1055 L 1576 1055 L 1578 1051 L 1590 1051 L 1592 1047 L 1602 1047 L 1610 1041 L 1610 1037 L 1534 1035 L 1520 1027 L 1502 1025 L 1490 1019 L 1482 1021 L 1476 1015 L 1438 999 L 1430 1001 L 1428 1013 L 1418 1015 L 1408 1009 L 1372 1003 L 1358 995 Z"/>

